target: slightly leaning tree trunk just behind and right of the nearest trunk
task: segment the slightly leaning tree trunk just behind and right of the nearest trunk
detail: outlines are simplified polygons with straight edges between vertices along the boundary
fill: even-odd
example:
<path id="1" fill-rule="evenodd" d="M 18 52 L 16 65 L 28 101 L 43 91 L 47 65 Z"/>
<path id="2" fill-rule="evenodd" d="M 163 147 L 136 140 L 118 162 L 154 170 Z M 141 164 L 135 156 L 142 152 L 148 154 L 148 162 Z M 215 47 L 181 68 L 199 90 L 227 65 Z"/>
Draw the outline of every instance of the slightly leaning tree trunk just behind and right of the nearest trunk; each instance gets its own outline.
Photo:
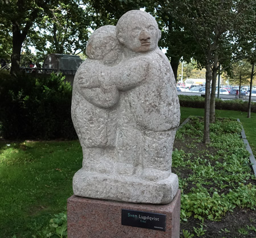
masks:
<path id="1" fill-rule="evenodd" d="M 218 71 L 218 54 L 214 54 L 214 64 L 212 70 L 212 92 L 210 92 L 210 123 L 215 122 L 215 98 L 216 98 L 216 82 Z"/>

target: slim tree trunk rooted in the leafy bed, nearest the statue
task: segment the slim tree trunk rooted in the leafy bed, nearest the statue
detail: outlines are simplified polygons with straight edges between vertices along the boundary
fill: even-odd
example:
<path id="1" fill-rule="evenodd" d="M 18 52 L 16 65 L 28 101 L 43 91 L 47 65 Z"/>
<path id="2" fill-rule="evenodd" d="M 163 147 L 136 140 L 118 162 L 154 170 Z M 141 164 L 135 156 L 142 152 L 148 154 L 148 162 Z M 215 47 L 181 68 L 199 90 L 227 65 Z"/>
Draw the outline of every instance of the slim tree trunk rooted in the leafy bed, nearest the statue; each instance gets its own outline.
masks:
<path id="1" fill-rule="evenodd" d="M 204 143 L 210 143 L 210 81 L 212 80 L 212 70 L 208 63 L 205 73 L 205 100 L 204 100 Z"/>

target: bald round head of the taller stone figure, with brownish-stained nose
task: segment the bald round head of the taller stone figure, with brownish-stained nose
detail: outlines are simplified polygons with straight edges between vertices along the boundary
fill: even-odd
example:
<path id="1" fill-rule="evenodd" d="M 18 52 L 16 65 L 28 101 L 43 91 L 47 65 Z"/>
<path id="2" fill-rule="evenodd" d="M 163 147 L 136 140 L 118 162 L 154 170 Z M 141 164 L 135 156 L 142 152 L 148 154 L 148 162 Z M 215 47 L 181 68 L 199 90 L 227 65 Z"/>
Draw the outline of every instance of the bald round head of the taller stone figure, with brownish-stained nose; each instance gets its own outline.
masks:
<path id="1" fill-rule="evenodd" d="M 133 52 L 148 52 L 158 47 L 161 31 L 155 18 L 147 12 L 126 12 L 117 23 L 117 39 Z"/>

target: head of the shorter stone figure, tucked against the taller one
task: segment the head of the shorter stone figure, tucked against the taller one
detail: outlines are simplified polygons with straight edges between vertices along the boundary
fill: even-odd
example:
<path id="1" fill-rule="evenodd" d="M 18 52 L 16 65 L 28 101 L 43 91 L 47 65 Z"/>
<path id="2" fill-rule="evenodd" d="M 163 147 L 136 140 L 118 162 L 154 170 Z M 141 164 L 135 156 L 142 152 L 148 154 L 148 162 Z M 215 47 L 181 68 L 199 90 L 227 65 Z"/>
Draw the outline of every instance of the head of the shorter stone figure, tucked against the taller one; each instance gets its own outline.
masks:
<path id="1" fill-rule="evenodd" d="M 115 26 L 104 25 L 96 29 L 87 42 L 86 54 L 90 59 L 102 60 L 106 65 L 118 63 L 121 46 L 117 40 Z"/>

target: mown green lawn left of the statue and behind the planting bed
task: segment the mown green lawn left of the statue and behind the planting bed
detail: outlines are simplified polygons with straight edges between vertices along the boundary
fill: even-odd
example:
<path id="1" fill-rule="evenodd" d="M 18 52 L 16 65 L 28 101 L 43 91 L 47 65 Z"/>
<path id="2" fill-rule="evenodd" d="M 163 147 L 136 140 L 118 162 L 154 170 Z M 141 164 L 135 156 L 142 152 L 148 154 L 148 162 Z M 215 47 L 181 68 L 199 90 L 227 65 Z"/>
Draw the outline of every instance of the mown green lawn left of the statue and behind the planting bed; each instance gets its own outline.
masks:
<path id="1" fill-rule="evenodd" d="M 203 114 L 203 109 L 181 108 L 181 121 Z M 240 118 L 256 152 L 256 113 L 250 119 L 243 112 L 216 114 Z M 66 210 L 67 198 L 73 194 L 72 177 L 81 163 L 78 141 L 0 142 L 1 237 L 40 237 L 53 214 Z"/>

